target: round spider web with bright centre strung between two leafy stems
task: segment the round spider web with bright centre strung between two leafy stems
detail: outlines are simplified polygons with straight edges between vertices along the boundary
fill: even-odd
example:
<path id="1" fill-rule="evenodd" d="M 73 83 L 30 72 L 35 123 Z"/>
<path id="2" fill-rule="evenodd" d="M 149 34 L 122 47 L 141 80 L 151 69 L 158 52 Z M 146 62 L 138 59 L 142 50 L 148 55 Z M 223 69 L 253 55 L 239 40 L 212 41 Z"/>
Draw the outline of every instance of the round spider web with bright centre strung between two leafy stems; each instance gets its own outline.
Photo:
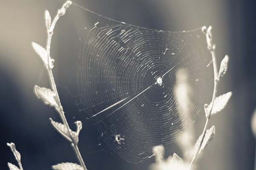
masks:
<path id="1" fill-rule="evenodd" d="M 144 161 L 152 156 L 153 146 L 176 142 L 203 106 L 201 30 L 157 31 L 73 8 L 73 20 L 81 11 L 90 18 L 76 23 L 81 49 L 77 72 L 67 87 L 81 114 L 128 162 Z M 179 71 L 186 71 L 193 91 L 193 102 L 186 107 L 190 119 L 175 94 Z"/>

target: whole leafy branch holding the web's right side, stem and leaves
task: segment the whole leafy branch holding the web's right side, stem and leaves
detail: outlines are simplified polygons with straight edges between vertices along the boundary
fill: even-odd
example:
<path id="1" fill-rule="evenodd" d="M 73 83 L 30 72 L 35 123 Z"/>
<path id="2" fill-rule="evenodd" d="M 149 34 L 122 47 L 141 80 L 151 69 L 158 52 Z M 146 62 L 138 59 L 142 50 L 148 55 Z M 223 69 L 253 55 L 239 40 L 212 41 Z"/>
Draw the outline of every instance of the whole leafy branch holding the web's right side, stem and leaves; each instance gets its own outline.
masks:
<path id="1" fill-rule="evenodd" d="M 212 94 L 212 102 L 208 105 L 204 105 L 204 111 L 206 116 L 206 123 L 204 125 L 204 130 L 202 135 L 199 137 L 195 144 L 195 155 L 193 156 L 193 159 L 189 165 L 189 169 L 191 168 L 192 164 L 195 162 L 195 160 L 198 158 L 199 153 L 201 150 L 203 150 L 209 142 L 213 139 L 213 136 L 215 134 L 215 127 L 212 126 L 209 130 L 207 130 L 207 126 L 209 123 L 209 119 L 211 115 L 216 114 L 220 111 L 222 111 L 225 106 L 227 105 L 227 102 L 229 101 L 232 92 L 228 92 L 227 94 L 223 94 L 221 96 L 216 97 L 217 93 L 217 87 L 218 82 L 220 81 L 221 77 L 224 76 L 227 72 L 227 65 L 229 61 L 228 55 L 224 57 L 221 61 L 220 70 L 217 72 L 217 62 L 215 57 L 215 45 L 212 44 L 212 27 L 209 26 L 208 28 L 206 26 L 202 27 L 203 33 L 206 35 L 206 41 L 207 41 L 207 48 L 212 54 L 212 63 L 213 63 L 213 72 L 214 72 L 214 88 L 213 88 L 213 94 Z"/>

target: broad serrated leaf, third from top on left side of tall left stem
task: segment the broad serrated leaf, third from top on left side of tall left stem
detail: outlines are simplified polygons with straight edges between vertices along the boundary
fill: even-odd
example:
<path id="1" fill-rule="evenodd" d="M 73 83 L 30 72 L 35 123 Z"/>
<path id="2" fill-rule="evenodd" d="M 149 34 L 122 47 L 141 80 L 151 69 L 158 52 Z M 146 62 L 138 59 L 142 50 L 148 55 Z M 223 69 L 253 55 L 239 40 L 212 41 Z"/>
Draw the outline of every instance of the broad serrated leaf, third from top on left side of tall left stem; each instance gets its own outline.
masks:
<path id="1" fill-rule="evenodd" d="M 54 106 L 56 109 L 58 109 L 58 105 L 55 100 L 55 93 L 49 88 L 41 88 L 35 85 L 35 94 L 36 96 L 38 96 L 38 98 L 42 99 L 45 104 L 47 105 L 49 104 L 51 106 Z"/>

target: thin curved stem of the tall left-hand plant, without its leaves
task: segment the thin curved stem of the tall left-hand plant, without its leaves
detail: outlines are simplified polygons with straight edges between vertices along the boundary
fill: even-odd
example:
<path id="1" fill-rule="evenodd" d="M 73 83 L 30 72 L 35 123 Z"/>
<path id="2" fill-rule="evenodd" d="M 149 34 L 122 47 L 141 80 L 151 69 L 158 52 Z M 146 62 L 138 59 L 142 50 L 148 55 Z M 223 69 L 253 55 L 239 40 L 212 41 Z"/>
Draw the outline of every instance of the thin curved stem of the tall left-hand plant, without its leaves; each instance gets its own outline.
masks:
<path id="1" fill-rule="evenodd" d="M 71 5 L 71 1 L 67 1 L 62 6 L 62 8 L 58 11 L 58 14 L 55 16 L 54 20 L 52 21 L 52 24 L 51 24 L 50 28 L 48 28 L 48 40 L 47 40 L 48 65 L 46 66 L 46 68 L 47 68 L 47 72 L 48 72 L 48 75 L 49 75 L 50 85 L 51 85 L 52 91 L 55 93 L 55 100 L 56 100 L 57 105 L 58 105 L 58 109 L 56 109 L 56 110 L 60 114 L 62 122 L 67 127 L 67 131 L 68 131 L 68 133 L 70 135 L 70 139 L 72 140 L 73 149 L 76 152 L 76 156 L 78 157 L 81 166 L 84 168 L 84 170 L 87 170 L 87 168 L 86 168 L 86 166 L 84 164 L 84 161 L 82 159 L 81 153 L 79 152 L 79 148 L 78 148 L 77 142 L 75 142 L 75 139 L 73 138 L 73 136 L 71 134 L 70 127 L 69 127 L 69 125 L 67 123 L 67 119 L 66 119 L 66 117 L 64 115 L 63 107 L 61 105 L 61 101 L 60 101 L 60 98 L 59 98 L 59 95 L 58 95 L 58 91 L 57 91 L 57 88 L 56 88 L 56 84 L 55 84 L 55 81 L 54 81 L 54 77 L 53 77 L 53 74 L 52 74 L 52 63 L 51 63 L 51 57 L 50 57 L 50 47 L 51 47 L 51 40 L 52 40 L 52 35 L 53 35 L 53 29 L 54 29 L 55 24 L 57 23 L 59 17 L 64 15 L 66 9 L 70 5 Z"/>

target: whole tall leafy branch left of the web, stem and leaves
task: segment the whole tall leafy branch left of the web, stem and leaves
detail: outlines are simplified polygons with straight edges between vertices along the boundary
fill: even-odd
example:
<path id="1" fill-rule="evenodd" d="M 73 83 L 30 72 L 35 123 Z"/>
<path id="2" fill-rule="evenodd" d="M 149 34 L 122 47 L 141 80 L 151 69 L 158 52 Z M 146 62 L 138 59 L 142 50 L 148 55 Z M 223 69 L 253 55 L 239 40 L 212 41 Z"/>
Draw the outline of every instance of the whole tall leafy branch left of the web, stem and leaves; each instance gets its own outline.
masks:
<path id="1" fill-rule="evenodd" d="M 44 62 L 45 68 L 48 73 L 49 81 L 51 89 L 48 88 L 42 88 L 37 85 L 35 85 L 35 94 L 38 96 L 38 98 L 42 99 L 45 104 L 53 106 L 55 110 L 59 113 L 62 123 L 54 122 L 51 118 L 51 124 L 53 127 L 62 135 L 64 136 L 69 142 L 71 142 L 71 146 L 73 147 L 77 158 L 79 159 L 80 165 L 73 164 L 73 163 L 61 163 L 58 165 L 52 166 L 55 170 L 64 170 L 64 169 L 70 169 L 70 170 L 87 170 L 84 161 L 81 157 L 81 154 L 79 152 L 78 148 L 78 142 L 79 142 L 79 132 L 82 128 L 81 121 L 75 122 L 77 125 L 76 132 L 72 131 L 67 123 L 67 119 L 64 115 L 63 107 L 61 105 L 61 101 L 58 95 L 58 91 L 56 88 L 56 84 L 54 81 L 54 77 L 52 74 L 52 68 L 54 67 L 54 59 L 50 57 L 50 47 L 51 47 L 51 40 L 53 35 L 53 30 L 55 27 L 55 24 L 57 23 L 59 17 L 63 16 L 66 13 L 67 8 L 72 4 L 71 1 L 67 1 L 64 3 L 61 9 L 58 10 L 55 18 L 53 21 L 51 20 L 51 16 L 49 14 L 49 11 L 45 11 L 45 22 L 47 27 L 47 48 L 43 48 L 41 45 L 38 45 L 35 42 L 32 42 L 32 46 L 37 52 L 37 54 L 41 57 L 41 59 Z"/>

